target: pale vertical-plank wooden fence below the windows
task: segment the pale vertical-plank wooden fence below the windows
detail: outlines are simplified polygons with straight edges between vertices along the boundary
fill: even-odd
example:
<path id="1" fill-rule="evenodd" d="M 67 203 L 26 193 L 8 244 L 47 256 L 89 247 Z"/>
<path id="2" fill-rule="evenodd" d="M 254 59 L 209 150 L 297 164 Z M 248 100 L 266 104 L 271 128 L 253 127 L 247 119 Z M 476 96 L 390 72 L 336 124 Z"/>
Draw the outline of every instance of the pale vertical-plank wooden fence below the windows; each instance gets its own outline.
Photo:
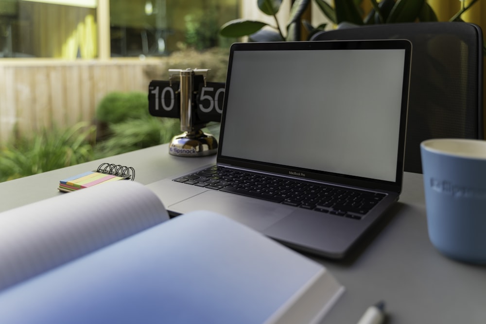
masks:
<path id="1" fill-rule="evenodd" d="M 107 93 L 148 93 L 150 81 L 163 78 L 164 71 L 167 69 L 160 59 L 2 59 L 0 146 L 12 136 L 92 121 L 98 103 Z"/>

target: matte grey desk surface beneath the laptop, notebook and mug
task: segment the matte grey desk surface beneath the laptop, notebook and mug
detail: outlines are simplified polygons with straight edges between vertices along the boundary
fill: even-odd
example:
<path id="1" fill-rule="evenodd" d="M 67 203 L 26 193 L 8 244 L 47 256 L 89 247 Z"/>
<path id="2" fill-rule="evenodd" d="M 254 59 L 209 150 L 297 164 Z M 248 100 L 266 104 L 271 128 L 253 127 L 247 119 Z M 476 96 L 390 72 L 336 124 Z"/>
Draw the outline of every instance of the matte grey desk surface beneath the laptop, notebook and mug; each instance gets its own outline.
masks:
<path id="1" fill-rule="evenodd" d="M 0 212 L 59 195 L 60 179 L 94 170 L 102 162 L 134 167 L 135 180 L 146 185 L 214 161 L 215 156 L 169 155 L 167 144 L 124 153 L 0 183 Z M 388 324 L 486 322 L 486 266 L 455 262 L 431 245 L 420 174 L 405 173 L 399 203 L 349 258 L 309 257 L 346 287 L 324 324 L 355 323 L 380 300 L 386 303 Z"/>

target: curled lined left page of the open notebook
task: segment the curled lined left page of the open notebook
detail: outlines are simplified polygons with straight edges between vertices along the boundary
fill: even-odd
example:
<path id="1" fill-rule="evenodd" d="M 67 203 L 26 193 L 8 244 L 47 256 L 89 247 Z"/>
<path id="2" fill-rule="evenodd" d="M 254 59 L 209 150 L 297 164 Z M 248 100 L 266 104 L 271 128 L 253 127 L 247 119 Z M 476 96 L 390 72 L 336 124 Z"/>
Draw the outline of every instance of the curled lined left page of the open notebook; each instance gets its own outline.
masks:
<path id="1" fill-rule="evenodd" d="M 132 181 L 0 213 L 0 290 L 168 219 L 159 198 Z"/>

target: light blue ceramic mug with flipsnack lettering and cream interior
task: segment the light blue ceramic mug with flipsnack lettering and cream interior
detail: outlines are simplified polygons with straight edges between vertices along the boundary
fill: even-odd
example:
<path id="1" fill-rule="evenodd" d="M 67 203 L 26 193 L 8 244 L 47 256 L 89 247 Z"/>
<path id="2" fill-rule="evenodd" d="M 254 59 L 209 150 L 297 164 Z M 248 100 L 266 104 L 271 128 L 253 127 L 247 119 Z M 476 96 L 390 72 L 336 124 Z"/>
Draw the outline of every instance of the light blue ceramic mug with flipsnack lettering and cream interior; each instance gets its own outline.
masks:
<path id="1" fill-rule="evenodd" d="M 486 263 L 486 141 L 430 139 L 420 152 L 432 244 L 453 259 Z"/>

